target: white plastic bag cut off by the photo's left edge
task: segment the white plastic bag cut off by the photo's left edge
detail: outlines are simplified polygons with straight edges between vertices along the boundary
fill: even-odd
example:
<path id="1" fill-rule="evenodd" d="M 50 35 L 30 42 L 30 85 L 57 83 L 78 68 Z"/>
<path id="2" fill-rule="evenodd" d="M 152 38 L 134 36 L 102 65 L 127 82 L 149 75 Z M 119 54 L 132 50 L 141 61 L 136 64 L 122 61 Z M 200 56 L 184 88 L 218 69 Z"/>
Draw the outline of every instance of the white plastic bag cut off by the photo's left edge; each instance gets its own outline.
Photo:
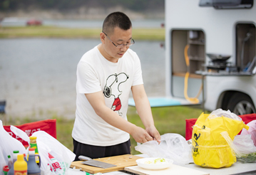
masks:
<path id="1" fill-rule="evenodd" d="M 14 150 L 18 150 L 19 154 L 26 153 L 23 144 L 6 132 L 0 120 L 0 174 L 3 173 L 3 167 L 8 164 L 8 155 L 13 159 Z"/>

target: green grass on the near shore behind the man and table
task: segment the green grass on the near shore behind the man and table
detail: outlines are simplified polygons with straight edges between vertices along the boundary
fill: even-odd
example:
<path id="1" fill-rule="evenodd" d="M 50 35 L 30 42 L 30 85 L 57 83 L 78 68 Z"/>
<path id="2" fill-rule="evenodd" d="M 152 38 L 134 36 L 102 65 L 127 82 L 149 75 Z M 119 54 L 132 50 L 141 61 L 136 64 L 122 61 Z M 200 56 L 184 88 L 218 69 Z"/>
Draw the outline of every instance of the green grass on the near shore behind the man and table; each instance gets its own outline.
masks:
<path id="1" fill-rule="evenodd" d="M 155 107 L 152 108 L 152 113 L 155 121 L 155 127 L 160 134 L 165 133 L 178 133 L 185 137 L 185 119 L 198 118 L 202 113 L 202 110 L 193 107 Z M 128 120 L 139 127 L 143 127 L 143 124 L 138 116 L 135 107 L 128 108 Z M 3 121 L 4 125 L 19 125 L 28 122 L 35 122 L 34 117 L 16 118 L 6 116 L 9 120 Z M 73 151 L 73 139 L 71 132 L 73 129 L 74 120 L 67 120 L 61 116 L 52 114 L 51 118 L 56 118 L 57 139 L 68 149 Z M 144 128 L 144 127 L 143 127 Z M 132 154 L 140 154 L 135 151 L 137 143 L 130 137 L 132 146 Z"/>

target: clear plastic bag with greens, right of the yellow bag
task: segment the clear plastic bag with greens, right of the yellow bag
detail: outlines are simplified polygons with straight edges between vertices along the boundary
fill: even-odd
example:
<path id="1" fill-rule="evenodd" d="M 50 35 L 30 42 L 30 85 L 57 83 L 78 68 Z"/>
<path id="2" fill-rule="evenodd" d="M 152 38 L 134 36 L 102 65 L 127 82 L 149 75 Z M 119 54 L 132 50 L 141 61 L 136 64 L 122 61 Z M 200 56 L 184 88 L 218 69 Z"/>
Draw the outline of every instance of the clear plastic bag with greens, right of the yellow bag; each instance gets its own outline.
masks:
<path id="1" fill-rule="evenodd" d="M 233 149 L 237 161 L 242 163 L 252 163 L 256 161 L 256 147 L 250 134 L 237 135 L 233 141 L 227 132 L 222 132 L 220 134 L 222 134 L 222 137 L 225 138 L 227 143 Z"/>

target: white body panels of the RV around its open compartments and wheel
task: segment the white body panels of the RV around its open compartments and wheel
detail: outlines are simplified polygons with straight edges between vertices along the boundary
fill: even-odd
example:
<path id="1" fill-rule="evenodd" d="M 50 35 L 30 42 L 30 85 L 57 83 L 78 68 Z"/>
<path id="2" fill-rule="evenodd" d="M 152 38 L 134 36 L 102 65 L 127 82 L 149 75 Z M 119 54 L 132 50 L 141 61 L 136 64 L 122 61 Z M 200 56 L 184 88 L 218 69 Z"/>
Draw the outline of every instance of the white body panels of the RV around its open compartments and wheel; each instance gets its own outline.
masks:
<path id="1" fill-rule="evenodd" d="M 213 7 L 201 7 L 195 0 L 166 0 L 165 1 L 165 90 L 167 97 L 180 97 L 175 93 L 175 82 L 172 61 L 172 31 L 174 30 L 200 30 L 205 34 L 205 53 L 219 53 L 231 55 L 229 62 L 237 65 L 236 58 L 236 25 L 237 23 L 256 23 L 256 6 L 251 9 L 215 9 Z M 255 36 L 253 36 L 255 40 Z M 184 59 L 184 58 L 183 58 Z M 210 58 L 205 54 L 205 64 Z M 178 65 L 174 65 L 178 66 Z M 195 96 L 198 91 L 200 78 L 190 78 L 189 89 L 196 92 L 188 92 Z M 235 92 L 248 95 L 254 106 L 256 105 L 256 75 L 250 76 L 205 76 L 205 109 L 209 111 L 222 108 L 225 93 L 232 96 Z M 195 85 L 195 83 L 197 85 Z M 183 89 L 182 83 L 178 86 Z M 177 88 L 176 88 L 177 89 Z M 229 97 L 231 97 L 229 96 Z M 200 96 L 202 100 L 202 95 Z M 227 97 L 226 97 L 227 100 Z M 228 110 L 228 109 L 225 109 Z"/>

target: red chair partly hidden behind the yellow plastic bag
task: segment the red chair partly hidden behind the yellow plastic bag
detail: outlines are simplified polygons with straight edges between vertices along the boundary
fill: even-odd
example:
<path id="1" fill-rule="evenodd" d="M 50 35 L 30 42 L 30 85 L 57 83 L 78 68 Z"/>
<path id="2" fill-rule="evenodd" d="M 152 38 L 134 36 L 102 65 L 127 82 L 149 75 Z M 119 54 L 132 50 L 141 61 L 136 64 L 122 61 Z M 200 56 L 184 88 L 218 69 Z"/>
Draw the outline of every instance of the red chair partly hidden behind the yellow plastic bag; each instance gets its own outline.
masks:
<path id="1" fill-rule="evenodd" d="M 252 120 L 256 120 L 256 114 L 250 114 L 250 115 L 239 115 L 241 117 L 242 121 L 245 122 L 245 124 L 249 123 Z M 192 132 L 193 132 L 193 126 L 195 122 L 198 119 L 186 119 L 186 131 L 185 131 L 185 139 L 189 140 L 192 137 Z"/>

